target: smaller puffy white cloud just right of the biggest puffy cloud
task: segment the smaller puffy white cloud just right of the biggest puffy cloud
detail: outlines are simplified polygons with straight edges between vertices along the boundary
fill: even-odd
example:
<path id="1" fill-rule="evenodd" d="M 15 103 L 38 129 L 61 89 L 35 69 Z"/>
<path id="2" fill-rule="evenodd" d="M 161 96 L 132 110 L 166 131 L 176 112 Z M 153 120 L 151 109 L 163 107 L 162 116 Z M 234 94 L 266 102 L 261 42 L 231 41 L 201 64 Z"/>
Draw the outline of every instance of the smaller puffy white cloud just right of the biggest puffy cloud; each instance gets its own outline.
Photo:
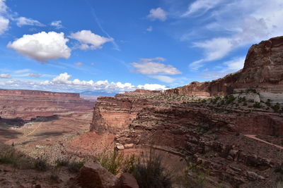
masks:
<path id="1" fill-rule="evenodd" d="M 90 30 L 81 30 L 79 32 L 71 33 L 69 37 L 80 42 L 79 49 L 101 49 L 103 44 L 114 40 L 112 38 L 96 35 Z"/>

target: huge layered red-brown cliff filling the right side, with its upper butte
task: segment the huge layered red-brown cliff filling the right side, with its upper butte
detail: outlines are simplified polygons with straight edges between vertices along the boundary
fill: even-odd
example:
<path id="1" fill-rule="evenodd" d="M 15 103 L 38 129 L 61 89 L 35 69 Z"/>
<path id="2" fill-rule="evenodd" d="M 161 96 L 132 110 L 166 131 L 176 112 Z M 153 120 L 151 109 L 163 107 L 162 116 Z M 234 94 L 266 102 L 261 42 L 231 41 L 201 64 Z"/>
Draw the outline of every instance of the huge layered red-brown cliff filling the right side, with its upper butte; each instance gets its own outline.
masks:
<path id="1" fill-rule="evenodd" d="M 282 62 L 283 37 L 277 37 L 253 45 L 243 70 L 219 80 L 165 92 L 137 90 L 99 97 L 90 130 L 115 134 L 118 150 L 154 146 L 191 158 L 209 170 L 216 185 L 221 181 L 231 186 L 266 185 L 282 163 L 283 147 L 255 135 L 283 137 L 283 115 L 271 110 L 272 104 L 262 108 L 265 104 L 260 103 L 283 103 Z M 191 100 L 229 94 L 238 101 L 245 96 L 248 104 L 239 105 L 234 96 L 231 104 L 229 97 Z"/>

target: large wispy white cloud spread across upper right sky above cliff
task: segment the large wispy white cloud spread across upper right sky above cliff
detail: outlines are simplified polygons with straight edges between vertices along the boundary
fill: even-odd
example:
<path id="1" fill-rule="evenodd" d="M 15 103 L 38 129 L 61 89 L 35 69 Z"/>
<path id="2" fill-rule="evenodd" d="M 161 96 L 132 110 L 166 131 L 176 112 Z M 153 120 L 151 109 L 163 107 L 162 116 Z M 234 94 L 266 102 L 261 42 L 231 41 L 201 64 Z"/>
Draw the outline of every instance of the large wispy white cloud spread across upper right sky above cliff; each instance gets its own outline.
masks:
<path id="1" fill-rule="evenodd" d="M 232 0 L 226 4 L 221 4 L 222 1 L 211 1 L 201 6 L 200 3 L 204 1 L 207 0 L 195 1 L 199 6 L 191 7 L 189 12 L 208 11 L 214 8 L 215 11 L 210 11 L 210 15 L 206 16 L 210 23 L 208 22 L 204 30 L 209 30 L 211 33 L 221 31 L 225 34 L 224 37 L 212 37 L 204 41 L 193 42 L 195 47 L 204 50 L 204 57 L 191 63 L 190 68 L 196 65 L 200 68 L 206 61 L 224 58 L 241 46 L 282 35 L 283 25 L 280 18 L 283 18 L 283 1 Z"/>

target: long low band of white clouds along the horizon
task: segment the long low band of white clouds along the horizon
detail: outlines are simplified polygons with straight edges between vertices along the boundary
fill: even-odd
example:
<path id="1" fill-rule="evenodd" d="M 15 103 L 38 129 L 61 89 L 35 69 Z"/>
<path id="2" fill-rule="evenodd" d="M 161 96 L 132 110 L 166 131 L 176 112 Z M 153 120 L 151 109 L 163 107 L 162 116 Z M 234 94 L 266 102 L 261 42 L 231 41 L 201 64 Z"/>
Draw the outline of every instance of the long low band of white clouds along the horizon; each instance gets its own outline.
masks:
<path id="1" fill-rule="evenodd" d="M 96 91 L 96 92 L 130 92 L 135 89 L 150 89 L 150 90 L 164 90 L 168 89 L 161 84 L 140 84 L 134 86 L 131 83 L 109 82 L 108 80 L 71 80 L 71 75 L 62 73 L 54 77 L 52 80 L 45 81 L 23 81 L 23 80 L 9 80 L 8 82 L 0 82 L 2 87 L 21 88 L 21 89 L 42 89 L 52 90 L 57 92 L 82 92 L 82 91 Z"/>

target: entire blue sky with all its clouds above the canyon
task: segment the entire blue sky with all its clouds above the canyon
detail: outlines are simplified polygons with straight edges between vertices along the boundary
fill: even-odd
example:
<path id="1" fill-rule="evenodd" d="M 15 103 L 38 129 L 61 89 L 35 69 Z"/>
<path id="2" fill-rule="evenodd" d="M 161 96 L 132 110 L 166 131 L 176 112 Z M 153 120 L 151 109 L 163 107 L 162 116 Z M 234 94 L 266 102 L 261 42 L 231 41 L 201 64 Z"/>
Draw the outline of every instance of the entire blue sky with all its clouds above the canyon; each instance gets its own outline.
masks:
<path id="1" fill-rule="evenodd" d="M 167 89 L 243 68 L 282 0 L 0 0 L 0 88 Z"/>

